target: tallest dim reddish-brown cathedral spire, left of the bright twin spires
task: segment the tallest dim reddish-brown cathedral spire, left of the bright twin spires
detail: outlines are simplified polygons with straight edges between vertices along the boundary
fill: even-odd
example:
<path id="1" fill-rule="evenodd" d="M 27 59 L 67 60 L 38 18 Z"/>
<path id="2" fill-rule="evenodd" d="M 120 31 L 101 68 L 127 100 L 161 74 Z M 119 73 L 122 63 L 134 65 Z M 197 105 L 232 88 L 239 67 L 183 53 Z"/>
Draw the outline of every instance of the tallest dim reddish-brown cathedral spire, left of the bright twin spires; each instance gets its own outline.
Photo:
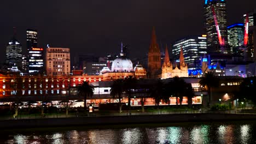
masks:
<path id="1" fill-rule="evenodd" d="M 151 44 L 148 51 L 148 72 L 149 77 L 158 77 L 161 74 L 161 53 L 156 42 L 155 27 L 153 27 Z"/>

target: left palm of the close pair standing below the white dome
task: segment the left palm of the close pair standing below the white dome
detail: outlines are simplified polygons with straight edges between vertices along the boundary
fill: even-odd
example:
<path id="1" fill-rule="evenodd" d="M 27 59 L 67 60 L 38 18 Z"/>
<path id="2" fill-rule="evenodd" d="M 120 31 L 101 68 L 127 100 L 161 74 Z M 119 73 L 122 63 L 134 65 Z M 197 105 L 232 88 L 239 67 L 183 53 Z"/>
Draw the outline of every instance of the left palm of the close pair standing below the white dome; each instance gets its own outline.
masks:
<path id="1" fill-rule="evenodd" d="M 124 80 L 123 79 L 117 79 L 114 80 L 111 89 L 110 89 L 110 95 L 112 95 L 113 98 L 118 97 L 118 103 L 119 103 L 119 112 L 122 111 L 123 104 L 121 103 L 121 95 L 123 94 L 124 89 Z"/>

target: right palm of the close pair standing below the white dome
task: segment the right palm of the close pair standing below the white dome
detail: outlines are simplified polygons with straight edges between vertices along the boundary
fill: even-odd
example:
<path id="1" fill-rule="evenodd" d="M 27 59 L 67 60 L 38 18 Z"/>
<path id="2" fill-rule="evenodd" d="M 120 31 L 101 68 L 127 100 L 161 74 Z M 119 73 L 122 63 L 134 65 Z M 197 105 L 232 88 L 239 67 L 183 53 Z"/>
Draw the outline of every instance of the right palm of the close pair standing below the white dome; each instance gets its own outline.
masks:
<path id="1" fill-rule="evenodd" d="M 131 94 L 132 89 L 137 87 L 137 79 L 132 75 L 128 76 L 124 80 L 124 91 L 128 93 L 128 107 L 129 107 L 129 114 L 131 115 Z"/>

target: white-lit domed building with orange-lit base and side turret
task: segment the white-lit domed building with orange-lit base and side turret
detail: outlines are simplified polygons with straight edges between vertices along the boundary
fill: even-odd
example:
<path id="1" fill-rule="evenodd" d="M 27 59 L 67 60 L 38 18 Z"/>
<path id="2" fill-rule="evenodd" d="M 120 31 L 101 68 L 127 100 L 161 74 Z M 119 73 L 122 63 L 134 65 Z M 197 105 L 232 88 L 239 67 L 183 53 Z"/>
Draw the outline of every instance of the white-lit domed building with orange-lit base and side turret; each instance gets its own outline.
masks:
<path id="1" fill-rule="evenodd" d="M 142 65 L 137 64 L 133 68 L 131 59 L 127 58 L 126 53 L 123 51 L 123 44 L 121 44 L 120 56 L 113 61 L 111 70 L 103 68 L 101 72 L 104 81 L 124 79 L 130 75 L 135 76 L 137 79 L 146 78 L 146 69 Z"/>

